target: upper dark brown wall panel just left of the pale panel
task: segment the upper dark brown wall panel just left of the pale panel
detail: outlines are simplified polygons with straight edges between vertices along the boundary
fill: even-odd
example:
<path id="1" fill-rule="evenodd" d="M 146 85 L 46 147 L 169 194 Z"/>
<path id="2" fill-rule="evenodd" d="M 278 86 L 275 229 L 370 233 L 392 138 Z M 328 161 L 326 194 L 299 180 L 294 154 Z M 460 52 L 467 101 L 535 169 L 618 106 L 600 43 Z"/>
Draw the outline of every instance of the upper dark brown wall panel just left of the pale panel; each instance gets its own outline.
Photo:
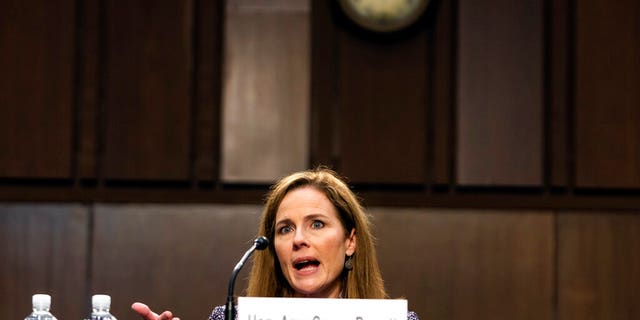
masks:
<path id="1" fill-rule="evenodd" d="M 106 179 L 190 177 L 193 15 L 192 1 L 106 2 Z"/>

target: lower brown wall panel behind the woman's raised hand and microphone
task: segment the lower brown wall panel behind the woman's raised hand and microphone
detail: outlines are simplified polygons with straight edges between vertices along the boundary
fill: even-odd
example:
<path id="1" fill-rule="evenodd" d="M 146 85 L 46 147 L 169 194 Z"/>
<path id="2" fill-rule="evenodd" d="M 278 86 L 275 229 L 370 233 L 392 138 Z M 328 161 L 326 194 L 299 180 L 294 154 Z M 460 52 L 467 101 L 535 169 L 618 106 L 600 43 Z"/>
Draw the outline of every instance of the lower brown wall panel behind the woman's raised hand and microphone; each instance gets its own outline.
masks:
<path id="1" fill-rule="evenodd" d="M 231 271 L 253 243 L 260 209 L 99 205 L 91 291 L 111 294 L 120 320 L 139 319 L 130 310 L 135 301 L 182 319 L 206 319 L 226 302 Z M 238 276 L 238 295 L 249 269 L 247 264 Z"/>

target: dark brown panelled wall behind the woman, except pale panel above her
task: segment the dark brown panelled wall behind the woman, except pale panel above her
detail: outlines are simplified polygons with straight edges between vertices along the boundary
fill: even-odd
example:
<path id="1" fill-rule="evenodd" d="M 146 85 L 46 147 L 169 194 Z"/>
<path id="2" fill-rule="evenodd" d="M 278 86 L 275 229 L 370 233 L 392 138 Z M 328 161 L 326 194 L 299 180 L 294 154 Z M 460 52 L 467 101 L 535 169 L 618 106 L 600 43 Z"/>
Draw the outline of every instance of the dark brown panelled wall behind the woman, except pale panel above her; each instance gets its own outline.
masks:
<path id="1" fill-rule="evenodd" d="M 312 1 L 309 167 L 370 209 L 423 319 L 636 319 L 640 3 Z M 224 303 L 263 184 L 221 172 L 222 1 L 0 1 L 0 316 Z M 250 161 L 259 161 L 253 159 Z M 238 284 L 240 292 L 244 283 Z"/>

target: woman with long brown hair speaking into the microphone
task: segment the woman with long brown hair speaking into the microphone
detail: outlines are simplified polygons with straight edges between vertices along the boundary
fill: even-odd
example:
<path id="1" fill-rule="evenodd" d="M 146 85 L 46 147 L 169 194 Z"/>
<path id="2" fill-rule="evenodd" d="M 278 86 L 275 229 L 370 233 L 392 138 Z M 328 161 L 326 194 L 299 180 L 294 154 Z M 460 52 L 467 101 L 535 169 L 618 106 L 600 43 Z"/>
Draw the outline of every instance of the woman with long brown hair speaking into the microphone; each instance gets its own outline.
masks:
<path id="1" fill-rule="evenodd" d="M 329 169 L 297 172 L 273 185 L 258 235 L 269 247 L 256 252 L 248 296 L 387 298 L 369 219 Z M 132 308 L 145 320 L 172 319 L 170 311 L 157 315 L 141 303 Z M 418 319 L 414 312 L 407 318 Z M 223 320 L 224 307 L 209 319 Z"/>

